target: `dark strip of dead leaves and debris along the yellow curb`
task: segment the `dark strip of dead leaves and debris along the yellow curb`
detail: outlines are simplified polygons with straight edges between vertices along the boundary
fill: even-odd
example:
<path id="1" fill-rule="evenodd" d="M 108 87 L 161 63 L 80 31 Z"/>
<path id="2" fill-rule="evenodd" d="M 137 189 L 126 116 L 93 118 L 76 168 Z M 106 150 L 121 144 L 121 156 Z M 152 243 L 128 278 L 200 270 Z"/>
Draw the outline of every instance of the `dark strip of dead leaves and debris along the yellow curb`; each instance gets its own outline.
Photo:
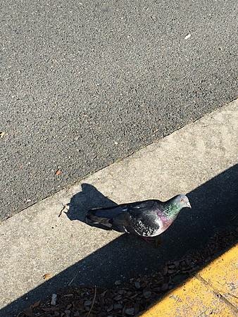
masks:
<path id="1" fill-rule="evenodd" d="M 18 317 L 139 316 L 166 292 L 194 275 L 213 257 L 237 243 L 237 240 L 237 230 L 220 232 L 201 251 L 170 261 L 163 268 L 158 268 L 158 271 L 138 275 L 127 283 L 115 282 L 115 286 L 108 290 L 100 287 L 69 287 L 59 290 L 54 306 L 51 304 L 51 295 L 18 313 Z"/>

